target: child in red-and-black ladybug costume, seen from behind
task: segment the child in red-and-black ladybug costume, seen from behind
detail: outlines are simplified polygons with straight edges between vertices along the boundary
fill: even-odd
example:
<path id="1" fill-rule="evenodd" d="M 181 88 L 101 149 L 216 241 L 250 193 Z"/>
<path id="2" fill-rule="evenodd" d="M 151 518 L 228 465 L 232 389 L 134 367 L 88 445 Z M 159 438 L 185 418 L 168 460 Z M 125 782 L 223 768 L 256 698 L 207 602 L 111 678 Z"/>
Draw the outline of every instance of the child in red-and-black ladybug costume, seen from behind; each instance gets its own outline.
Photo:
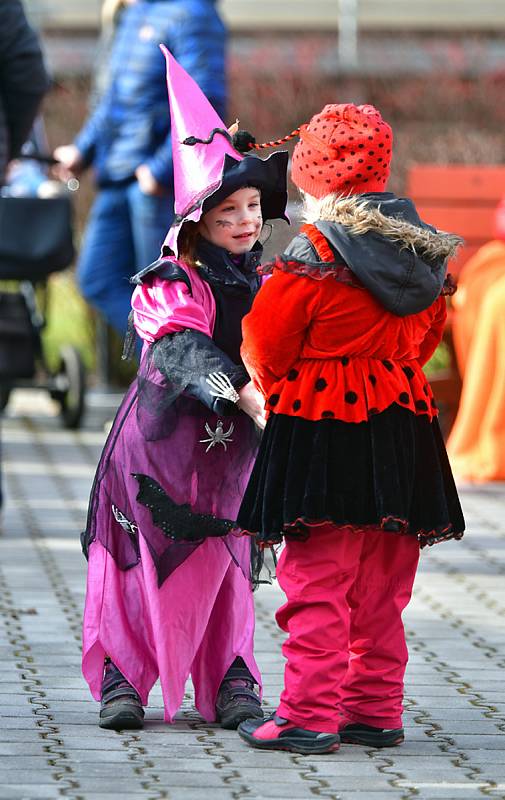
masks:
<path id="1" fill-rule="evenodd" d="M 242 347 L 269 415 L 238 521 L 285 539 L 285 684 L 273 718 L 239 733 L 325 753 L 403 741 L 401 614 L 419 550 L 463 534 L 422 370 L 459 240 L 384 191 L 392 131 L 373 106 L 328 105 L 299 135 L 292 178 L 310 222 L 273 264 Z"/>

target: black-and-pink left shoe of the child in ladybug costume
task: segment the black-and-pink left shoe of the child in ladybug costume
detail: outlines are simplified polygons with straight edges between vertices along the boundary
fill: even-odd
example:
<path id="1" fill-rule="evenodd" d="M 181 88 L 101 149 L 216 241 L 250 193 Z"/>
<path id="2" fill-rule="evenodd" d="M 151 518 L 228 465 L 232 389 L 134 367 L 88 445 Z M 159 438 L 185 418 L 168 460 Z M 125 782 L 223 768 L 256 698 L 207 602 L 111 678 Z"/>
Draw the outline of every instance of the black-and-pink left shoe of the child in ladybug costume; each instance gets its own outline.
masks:
<path id="1" fill-rule="evenodd" d="M 323 733 L 297 728 L 274 714 L 266 722 L 248 719 L 238 726 L 239 736 L 260 750 L 288 750 L 301 755 L 334 753 L 340 747 L 338 733 Z"/>

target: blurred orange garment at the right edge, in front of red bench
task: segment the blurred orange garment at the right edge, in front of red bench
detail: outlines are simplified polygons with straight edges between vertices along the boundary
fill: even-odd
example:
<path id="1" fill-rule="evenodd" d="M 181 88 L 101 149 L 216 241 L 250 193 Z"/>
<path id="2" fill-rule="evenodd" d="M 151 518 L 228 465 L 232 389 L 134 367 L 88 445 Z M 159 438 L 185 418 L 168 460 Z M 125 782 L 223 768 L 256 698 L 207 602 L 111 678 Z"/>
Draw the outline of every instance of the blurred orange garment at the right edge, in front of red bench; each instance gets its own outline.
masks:
<path id="1" fill-rule="evenodd" d="M 451 466 L 461 479 L 505 480 L 505 241 L 468 261 L 454 300 L 463 389 L 447 442 Z"/>

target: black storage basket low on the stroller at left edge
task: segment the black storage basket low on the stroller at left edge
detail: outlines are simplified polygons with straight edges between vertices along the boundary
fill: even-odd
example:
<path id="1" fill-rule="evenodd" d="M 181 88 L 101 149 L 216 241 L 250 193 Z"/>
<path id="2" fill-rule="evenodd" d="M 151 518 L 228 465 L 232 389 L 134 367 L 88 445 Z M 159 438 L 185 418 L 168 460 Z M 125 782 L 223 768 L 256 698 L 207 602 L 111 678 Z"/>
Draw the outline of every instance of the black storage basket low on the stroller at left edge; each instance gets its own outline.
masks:
<path id="1" fill-rule="evenodd" d="M 33 378 L 36 344 L 24 295 L 0 292 L 0 381 Z"/>

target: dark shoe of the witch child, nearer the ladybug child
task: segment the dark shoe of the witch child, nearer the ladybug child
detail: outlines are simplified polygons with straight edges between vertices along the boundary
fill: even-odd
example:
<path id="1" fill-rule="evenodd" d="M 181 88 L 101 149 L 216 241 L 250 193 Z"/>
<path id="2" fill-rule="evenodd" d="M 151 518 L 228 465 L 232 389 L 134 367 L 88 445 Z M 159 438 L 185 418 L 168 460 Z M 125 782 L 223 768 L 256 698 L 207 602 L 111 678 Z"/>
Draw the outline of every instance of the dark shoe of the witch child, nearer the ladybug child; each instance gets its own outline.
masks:
<path id="1" fill-rule="evenodd" d="M 216 699 L 216 719 L 222 728 L 235 730 L 245 719 L 263 720 L 254 678 L 242 658 L 236 658 L 224 676 Z"/>

